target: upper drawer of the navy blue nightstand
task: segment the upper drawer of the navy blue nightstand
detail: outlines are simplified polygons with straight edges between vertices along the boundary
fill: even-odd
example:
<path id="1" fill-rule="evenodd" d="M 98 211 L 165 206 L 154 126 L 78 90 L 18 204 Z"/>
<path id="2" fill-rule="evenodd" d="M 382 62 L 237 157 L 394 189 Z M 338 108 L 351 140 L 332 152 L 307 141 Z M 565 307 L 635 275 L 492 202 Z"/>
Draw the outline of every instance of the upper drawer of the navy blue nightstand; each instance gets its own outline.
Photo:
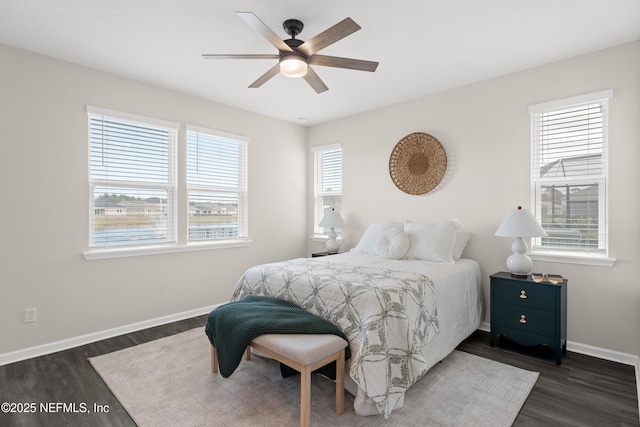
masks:
<path id="1" fill-rule="evenodd" d="M 494 279 L 493 298 L 521 307 L 535 307 L 540 310 L 555 311 L 557 292 L 549 284 L 527 282 L 525 280 Z"/>

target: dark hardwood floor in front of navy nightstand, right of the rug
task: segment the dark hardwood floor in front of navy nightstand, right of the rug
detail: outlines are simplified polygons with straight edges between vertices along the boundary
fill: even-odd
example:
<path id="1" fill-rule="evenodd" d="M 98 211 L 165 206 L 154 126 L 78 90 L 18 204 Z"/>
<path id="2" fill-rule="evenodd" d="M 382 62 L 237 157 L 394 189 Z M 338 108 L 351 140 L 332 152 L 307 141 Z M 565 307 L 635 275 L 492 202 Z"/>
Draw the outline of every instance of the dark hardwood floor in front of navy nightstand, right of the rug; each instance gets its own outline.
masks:
<path id="1" fill-rule="evenodd" d="M 547 348 L 528 348 L 476 331 L 458 350 L 540 373 L 514 426 L 638 426 L 635 369 L 567 352 L 562 365 Z"/>

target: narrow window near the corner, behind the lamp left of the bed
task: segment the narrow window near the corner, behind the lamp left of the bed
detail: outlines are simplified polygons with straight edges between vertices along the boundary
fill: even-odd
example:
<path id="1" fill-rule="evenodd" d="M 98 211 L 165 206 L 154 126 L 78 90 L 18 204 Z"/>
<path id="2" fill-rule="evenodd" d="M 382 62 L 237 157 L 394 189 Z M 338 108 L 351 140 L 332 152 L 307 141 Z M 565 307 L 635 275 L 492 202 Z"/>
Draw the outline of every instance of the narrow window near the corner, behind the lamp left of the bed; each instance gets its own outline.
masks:
<path id="1" fill-rule="evenodd" d="M 314 164 L 314 234 L 327 234 L 318 226 L 327 209 L 342 210 L 342 148 L 340 144 L 312 148 Z M 337 230 L 340 234 L 341 230 Z"/>

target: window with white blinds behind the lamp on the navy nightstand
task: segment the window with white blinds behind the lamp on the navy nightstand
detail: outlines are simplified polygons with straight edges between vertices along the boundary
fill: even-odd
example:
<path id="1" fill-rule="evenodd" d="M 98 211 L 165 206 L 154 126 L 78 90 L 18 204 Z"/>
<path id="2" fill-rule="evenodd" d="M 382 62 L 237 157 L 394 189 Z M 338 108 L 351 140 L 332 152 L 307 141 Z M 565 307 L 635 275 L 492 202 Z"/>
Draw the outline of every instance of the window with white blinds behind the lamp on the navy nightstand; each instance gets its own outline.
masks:
<path id="1" fill-rule="evenodd" d="M 612 91 L 533 105 L 532 187 L 548 237 L 534 251 L 606 256 L 607 123 Z"/>

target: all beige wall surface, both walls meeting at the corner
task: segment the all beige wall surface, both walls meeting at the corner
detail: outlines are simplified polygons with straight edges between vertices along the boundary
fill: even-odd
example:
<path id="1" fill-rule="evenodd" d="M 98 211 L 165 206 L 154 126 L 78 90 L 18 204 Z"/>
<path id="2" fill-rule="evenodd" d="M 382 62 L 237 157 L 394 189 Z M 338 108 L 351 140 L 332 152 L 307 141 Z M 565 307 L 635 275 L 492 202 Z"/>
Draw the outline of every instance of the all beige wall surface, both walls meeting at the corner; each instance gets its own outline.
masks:
<path id="1" fill-rule="evenodd" d="M 569 279 L 570 342 L 640 354 L 640 42 L 419 98 L 309 129 L 0 45 L 0 355 L 225 302 L 249 266 L 322 249 L 312 230 L 308 145 L 342 142 L 344 249 L 376 220 L 457 217 L 465 255 L 504 270 L 509 209 L 530 205 L 530 104 L 613 89 L 612 268 L 536 263 Z M 428 76 L 425 76 L 428 78 Z M 248 248 L 85 261 L 91 104 L 250 138 Z M 427 132 L 448 155 L 422 196 L 391 182 L 403 136 Z M 286 189 L 286 191 L 283 191 Z M 36 307 L 38 321 L 23 323 Z M 488 320 L 488 317 L 487 317 Z"/>

